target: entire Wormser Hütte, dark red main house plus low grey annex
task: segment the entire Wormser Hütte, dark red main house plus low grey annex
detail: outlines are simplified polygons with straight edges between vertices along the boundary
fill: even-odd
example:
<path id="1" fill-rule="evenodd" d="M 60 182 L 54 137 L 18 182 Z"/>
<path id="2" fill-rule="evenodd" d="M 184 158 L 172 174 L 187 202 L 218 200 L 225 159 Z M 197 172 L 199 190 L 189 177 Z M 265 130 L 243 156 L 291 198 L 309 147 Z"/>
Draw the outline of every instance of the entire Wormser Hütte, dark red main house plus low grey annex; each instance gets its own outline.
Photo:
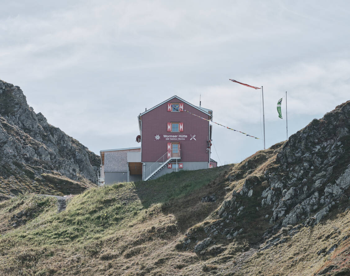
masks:
<path id="1" fill-rule="evenodd" d="M 212 110 L 177 96 L 140 113 L 136 138 L 140 147 L 101 150 L 99 184 L 147 181 L 173 171 L 216 167 L 210 158 L 212 118 Z"/>

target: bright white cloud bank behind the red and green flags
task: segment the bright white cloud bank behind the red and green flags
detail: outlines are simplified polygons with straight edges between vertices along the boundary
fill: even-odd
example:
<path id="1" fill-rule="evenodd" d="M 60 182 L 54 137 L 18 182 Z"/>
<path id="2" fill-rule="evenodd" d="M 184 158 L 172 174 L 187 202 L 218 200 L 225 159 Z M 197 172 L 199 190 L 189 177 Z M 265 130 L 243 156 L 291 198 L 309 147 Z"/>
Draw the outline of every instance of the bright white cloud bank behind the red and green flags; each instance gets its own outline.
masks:
<path id="1" fill-rule="evenodd" d="M 275 69 L 256 78 L 242 76 L 237 79 L 253 86 L 264 85 L 266 120 L 279 120 L 276 104 L 283 97 L 284 108 L 285 91 L 288 91 L 288 111 L 291 114 L 322 114 L 349 99 L 350 59 L 295 63 L 285 65 L 283 71 Z M 261 90 L 225 79 L 222 85 L 198 87 L 196 93 L 202 94 L 203 106 L 213 109 L 217 120 L 225 122 L 226 118 L 231 118 L 233 123 L 259 122 Z M 191 101 L 197 103 L 198 97 L 191 98 Z"/>

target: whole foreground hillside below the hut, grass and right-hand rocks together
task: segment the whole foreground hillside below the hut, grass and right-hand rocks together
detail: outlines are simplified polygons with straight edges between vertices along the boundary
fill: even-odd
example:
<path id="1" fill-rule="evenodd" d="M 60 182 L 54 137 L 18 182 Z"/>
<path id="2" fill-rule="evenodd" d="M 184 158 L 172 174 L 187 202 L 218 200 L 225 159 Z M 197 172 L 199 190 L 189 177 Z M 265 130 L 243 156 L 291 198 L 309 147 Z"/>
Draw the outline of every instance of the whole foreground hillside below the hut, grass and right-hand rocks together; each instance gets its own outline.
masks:
<path id="1" fill-rule="evenodd" d="M 350 101 L 239 164 L 0 203 L 0 273 L 350 275 Z"/>

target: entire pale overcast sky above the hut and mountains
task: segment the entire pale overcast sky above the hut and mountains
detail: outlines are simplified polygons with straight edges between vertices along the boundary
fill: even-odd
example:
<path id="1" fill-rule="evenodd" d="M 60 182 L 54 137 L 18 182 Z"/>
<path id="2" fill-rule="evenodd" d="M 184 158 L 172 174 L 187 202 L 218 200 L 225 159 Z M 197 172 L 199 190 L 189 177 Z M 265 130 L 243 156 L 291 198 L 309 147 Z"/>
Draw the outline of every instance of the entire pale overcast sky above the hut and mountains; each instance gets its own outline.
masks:
<path id="1" fill-rule="evenodd" d="M 214 121 L 286 140 L 349 100 L 348 1 L 0 0 L 0 79 L 90 150 L 138 147 L 137 115 L 178 95 Z M 201 119 L 198 119 L 201 120 Z M 263 141 L 214 124 L 212 158 Z"/>

